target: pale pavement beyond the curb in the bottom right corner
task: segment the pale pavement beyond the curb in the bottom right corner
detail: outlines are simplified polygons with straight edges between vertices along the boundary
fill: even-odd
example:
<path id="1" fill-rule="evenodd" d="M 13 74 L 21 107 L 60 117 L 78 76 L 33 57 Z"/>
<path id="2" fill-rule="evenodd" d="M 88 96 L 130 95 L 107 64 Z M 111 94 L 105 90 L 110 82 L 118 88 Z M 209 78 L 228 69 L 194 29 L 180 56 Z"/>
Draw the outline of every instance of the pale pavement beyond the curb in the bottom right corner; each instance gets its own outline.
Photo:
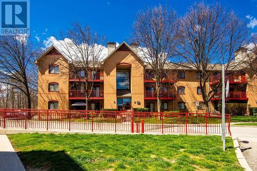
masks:
<path id="1" fill-rule="evenodd" d="M 251 169 L 257 170 L 257 127 L 231 126 L 230 130 Z"/>

